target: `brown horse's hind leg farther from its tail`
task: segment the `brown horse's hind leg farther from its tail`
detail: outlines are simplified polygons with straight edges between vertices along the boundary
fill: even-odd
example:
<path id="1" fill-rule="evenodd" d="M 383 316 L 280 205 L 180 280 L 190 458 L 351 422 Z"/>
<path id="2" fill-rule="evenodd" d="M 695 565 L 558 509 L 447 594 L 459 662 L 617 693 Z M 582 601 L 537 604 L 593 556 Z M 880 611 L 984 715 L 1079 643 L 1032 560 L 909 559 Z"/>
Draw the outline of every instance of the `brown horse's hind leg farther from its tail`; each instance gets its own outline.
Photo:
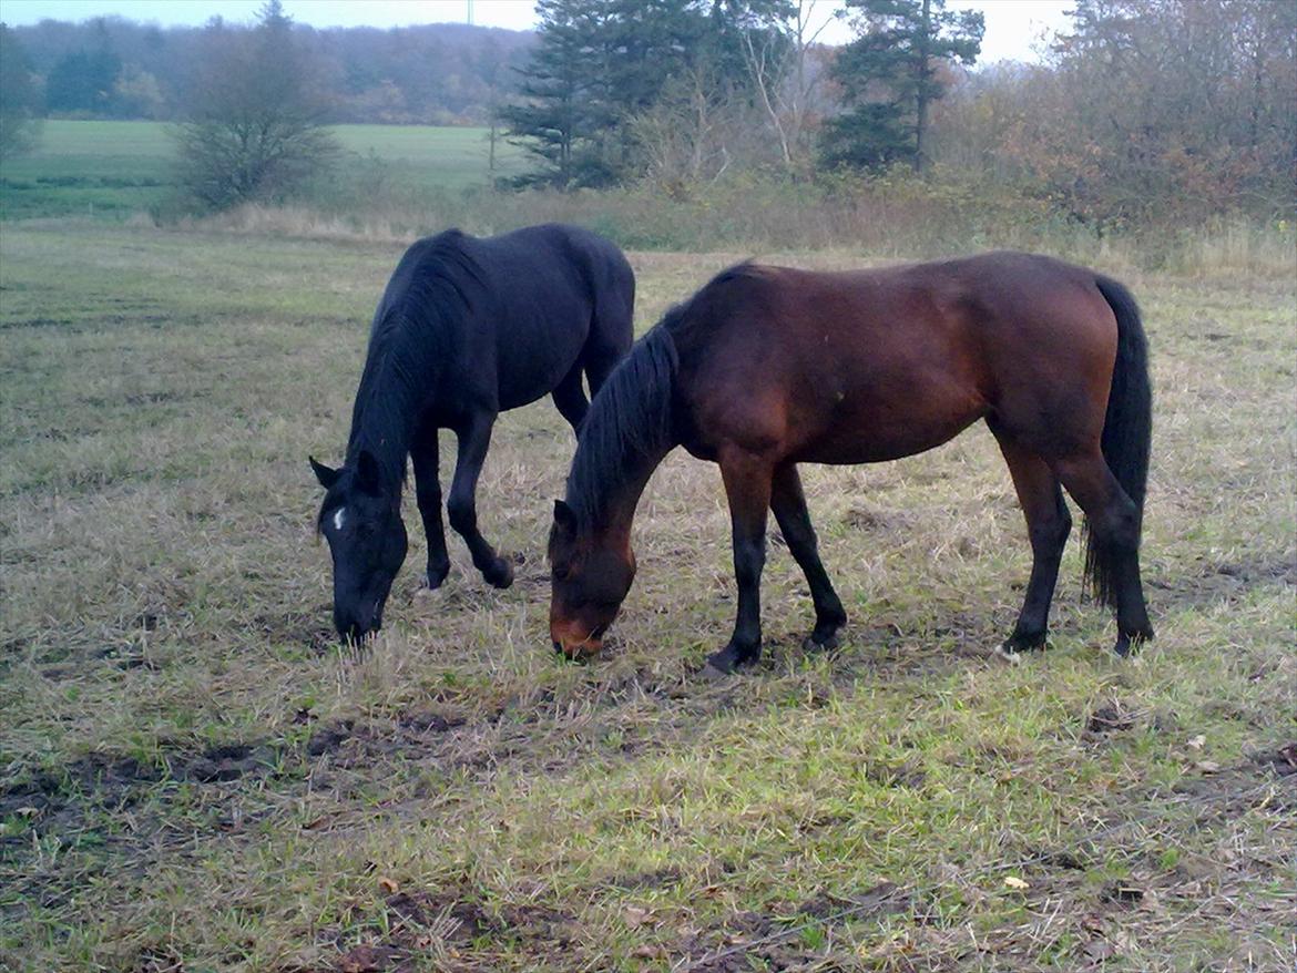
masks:
<path id="1" fill-rule="evenodd" d="M 1043 649 L 1045 645 L 1049 605 L 1058 583 L 1062 549 L 1071 532 L 1071 514 L 1067 512 L 1058 477 L 1049 464 L 1000 427 L 992 424 L 991 432 L 1009 466 L 1013 488 L 1027 520 L 1027 536 L 1031 538 L 1031 579 L 1027 581 L 1027 593 L 1013 634 L 1001 646 L 1004 653 L 1012 655 L 1027 649 Z"/>

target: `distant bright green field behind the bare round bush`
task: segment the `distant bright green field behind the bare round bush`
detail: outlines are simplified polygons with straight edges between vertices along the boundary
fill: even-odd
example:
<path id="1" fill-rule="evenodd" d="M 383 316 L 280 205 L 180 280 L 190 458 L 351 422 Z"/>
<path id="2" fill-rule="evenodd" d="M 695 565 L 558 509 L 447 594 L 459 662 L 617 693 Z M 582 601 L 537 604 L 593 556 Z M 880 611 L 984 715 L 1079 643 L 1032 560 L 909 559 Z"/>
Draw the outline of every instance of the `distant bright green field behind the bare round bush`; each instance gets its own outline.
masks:
<path id="1" fill-rule="evenodd" d="M 434 193 L 488 184 L 485 128 L 342 125 L 337 173 L 318 187 L 328 198 L 384 188 Z M 163 204 L 175 192 L 174 145 L 162 122 L 48 121 L 35 152 L 4 162 L 0 219 L 80 215 L 125 219 Z M 497 174 L 521 165 L 501 140 Z"/>

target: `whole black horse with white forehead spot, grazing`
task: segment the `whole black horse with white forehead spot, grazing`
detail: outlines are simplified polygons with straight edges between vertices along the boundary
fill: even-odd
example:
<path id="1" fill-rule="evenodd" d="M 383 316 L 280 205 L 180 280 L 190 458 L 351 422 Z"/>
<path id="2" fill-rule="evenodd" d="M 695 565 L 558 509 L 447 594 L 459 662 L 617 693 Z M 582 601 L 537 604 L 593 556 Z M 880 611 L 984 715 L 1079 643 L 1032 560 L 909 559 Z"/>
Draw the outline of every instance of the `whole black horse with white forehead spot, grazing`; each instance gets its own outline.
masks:
<path id="1" fill-rule="evenodd" d="M 577 227 L 486 239 L 449 230 L 406 250 L 374 315 L 346 461 L 331 470 L 311 458 L 326 489 L 318 527 L 333 555 L 333 624 L 342 638 L 381 627 L 405 560 L 406 454 L 428 536 L 428 586 L 440 586 L 450 571 L 438 429 L 454 429 L 459 440 L 450 525 L 486 581 L 512 583 L 508 560 L 477 531 L 473 496 L 492 424 L 502 410 L 553 393 L 580 431 L 589 407 L 581 374 L 594 394 L 629 350 L 634 292 L 621 250 Z"/>

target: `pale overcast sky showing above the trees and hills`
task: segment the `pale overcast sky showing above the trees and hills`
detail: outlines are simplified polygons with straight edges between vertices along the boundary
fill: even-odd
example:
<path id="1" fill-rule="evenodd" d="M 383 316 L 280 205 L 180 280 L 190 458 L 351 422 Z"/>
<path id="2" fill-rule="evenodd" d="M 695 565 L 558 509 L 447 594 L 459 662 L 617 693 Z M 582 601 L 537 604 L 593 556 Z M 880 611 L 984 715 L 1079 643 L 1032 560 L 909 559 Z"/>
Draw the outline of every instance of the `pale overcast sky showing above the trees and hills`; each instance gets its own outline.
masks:
<path id="1" fill-rule="evenodd" d="M 0 0 L 0 19 L 10 26 L 44 18 L 84 21 L 117 14 L 132 21 L 156 21 L 163 26 L 201 25 L 215 14 L 227 21 L 252 21 L 265 0 Z M 298 23 L 313 27 L 398 27 L 409 23 L 468 19 L 489 27 L 527 30 L 536 26 L 532 0 L 283 0 Z M 986 14 L 982 61 L 1036 61 L 1045 31 L 1067 25 L 1065 10 L 1075 0 L 948 0 L 949 9 L 974 9 Z M 838 0 L 818 0 L 816 19 L 831 17 Z M 840 44 L 850 39 L 846 23 L 829 23 L 820 39 Z"/>

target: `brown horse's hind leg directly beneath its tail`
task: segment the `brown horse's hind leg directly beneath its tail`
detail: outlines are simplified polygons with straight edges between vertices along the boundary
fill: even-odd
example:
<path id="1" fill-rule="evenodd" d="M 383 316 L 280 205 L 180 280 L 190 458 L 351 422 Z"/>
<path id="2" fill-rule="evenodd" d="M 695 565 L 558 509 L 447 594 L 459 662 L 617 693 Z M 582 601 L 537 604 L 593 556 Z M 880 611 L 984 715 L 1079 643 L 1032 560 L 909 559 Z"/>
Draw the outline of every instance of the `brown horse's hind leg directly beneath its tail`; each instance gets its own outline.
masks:
<path id="1" fill-rule="evenodd" d="M 1139 575 L 1139 511 L 1135 502 L 1113 476 L 1096 445 L 1092 451 L 1066 457 L 1053 463 L 1054 472 L 1080 509 L 1100 558 L 1113 581 L 1117 602 L 1118 655 L 1153 637 Z"/>

